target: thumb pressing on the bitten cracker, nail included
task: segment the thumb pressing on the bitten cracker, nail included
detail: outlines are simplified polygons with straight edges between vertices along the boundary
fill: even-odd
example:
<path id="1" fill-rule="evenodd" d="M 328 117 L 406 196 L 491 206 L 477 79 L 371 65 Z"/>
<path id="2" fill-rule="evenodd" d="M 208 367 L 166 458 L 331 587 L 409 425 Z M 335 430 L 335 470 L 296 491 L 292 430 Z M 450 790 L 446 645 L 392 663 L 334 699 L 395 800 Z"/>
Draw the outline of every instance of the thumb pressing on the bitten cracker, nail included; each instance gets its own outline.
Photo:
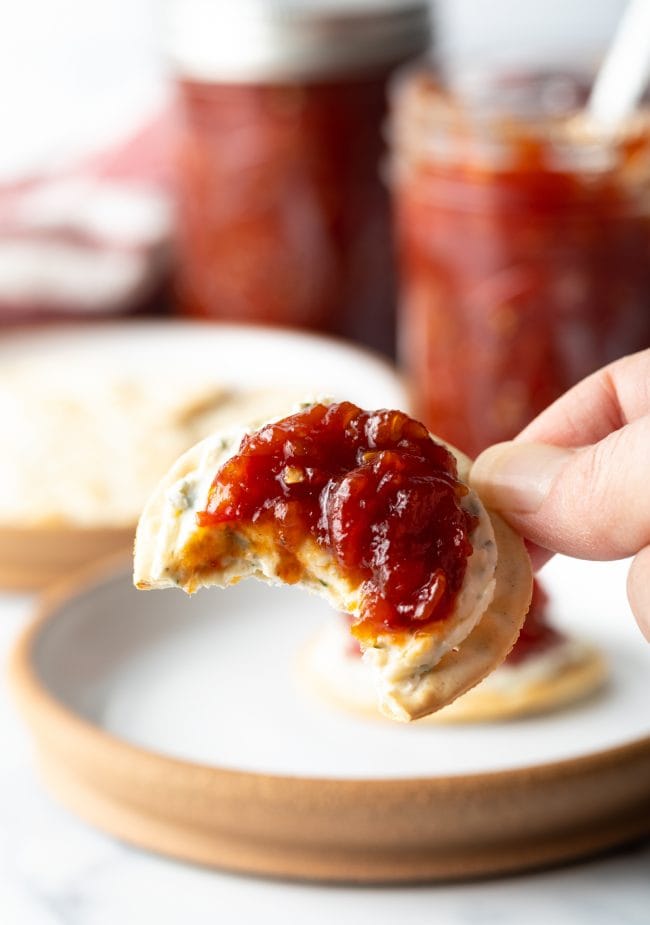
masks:
<path id="1" fill-rule="evenodd" d="M 650 417 L 579 449 L 501 443 L 470 482 L 523 536 L 583 559 L 617 559 L 650 543 Z"/>

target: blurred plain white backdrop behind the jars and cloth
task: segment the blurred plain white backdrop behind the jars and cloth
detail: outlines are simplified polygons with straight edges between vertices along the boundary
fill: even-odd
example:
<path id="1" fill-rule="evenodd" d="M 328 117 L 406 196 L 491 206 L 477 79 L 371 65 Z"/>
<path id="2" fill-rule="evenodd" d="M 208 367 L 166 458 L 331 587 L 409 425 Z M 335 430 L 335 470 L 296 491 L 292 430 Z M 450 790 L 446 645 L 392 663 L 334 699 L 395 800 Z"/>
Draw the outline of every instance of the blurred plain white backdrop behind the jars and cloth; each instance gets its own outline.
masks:
<path id="1" fill-rule="evenodd" d="M 572 60 L 598 55 L 624 0 L 440 0 L 454 55 Z M 20 0 L 2 5 L 0 181 L 52 168 L 127 134 L 165 97 L 164 0 Z"/>

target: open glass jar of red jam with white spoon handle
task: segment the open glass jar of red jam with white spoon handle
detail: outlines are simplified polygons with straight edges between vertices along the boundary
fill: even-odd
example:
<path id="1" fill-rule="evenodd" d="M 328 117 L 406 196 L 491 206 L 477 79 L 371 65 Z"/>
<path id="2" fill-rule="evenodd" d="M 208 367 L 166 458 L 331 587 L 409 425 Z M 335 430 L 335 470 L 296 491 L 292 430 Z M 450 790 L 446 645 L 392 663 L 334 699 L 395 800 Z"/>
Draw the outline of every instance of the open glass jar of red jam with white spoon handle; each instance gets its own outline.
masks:
<path id="1" fill-rule="evenodd" d="M 650 111 L 588 82 L 426 68 L 392 93 L 400 352 L 416 414 L 470 455 L 650 345 Z"/>

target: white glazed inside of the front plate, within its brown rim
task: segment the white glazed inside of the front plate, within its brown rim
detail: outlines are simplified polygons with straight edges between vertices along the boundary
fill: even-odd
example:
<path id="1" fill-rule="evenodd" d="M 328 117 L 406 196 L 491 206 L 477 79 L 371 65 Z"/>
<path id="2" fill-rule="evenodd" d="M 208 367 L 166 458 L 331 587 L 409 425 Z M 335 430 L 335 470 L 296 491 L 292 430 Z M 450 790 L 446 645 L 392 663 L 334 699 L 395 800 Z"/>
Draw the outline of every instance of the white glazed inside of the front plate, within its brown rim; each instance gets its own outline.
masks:
<path id="1" fill-rule="evenodd" d="M 364 721 L 312 700 L 296 653 L 319 599 L 244 582 L 227 591 L 137 592 L 128 573 L 83 591 L 43 627 L 41 683 L 132 744 L 222 768 L 333 778 L 467 775 L 576 758 L 650 735 L 650 646 L 625 598 L 625 563 L 557 558 L 557 622 L 600 645 L 611 680 L 549 716 L 482 726 Z"/>

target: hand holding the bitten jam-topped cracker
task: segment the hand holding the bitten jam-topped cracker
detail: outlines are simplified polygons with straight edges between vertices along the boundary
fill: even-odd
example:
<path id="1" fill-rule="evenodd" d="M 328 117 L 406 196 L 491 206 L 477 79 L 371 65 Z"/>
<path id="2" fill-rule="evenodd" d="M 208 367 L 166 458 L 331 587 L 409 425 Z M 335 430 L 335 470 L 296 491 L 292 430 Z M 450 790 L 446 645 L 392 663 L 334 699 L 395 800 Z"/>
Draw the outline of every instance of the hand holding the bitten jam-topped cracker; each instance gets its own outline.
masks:
<path id="1" fill-rule="evenodd" d="M 489 447 L 470 481 L 550 553 L 634 556 L 627 594 L 650 641 L 650 350 L 584 379 L 515 440 Z"/>

